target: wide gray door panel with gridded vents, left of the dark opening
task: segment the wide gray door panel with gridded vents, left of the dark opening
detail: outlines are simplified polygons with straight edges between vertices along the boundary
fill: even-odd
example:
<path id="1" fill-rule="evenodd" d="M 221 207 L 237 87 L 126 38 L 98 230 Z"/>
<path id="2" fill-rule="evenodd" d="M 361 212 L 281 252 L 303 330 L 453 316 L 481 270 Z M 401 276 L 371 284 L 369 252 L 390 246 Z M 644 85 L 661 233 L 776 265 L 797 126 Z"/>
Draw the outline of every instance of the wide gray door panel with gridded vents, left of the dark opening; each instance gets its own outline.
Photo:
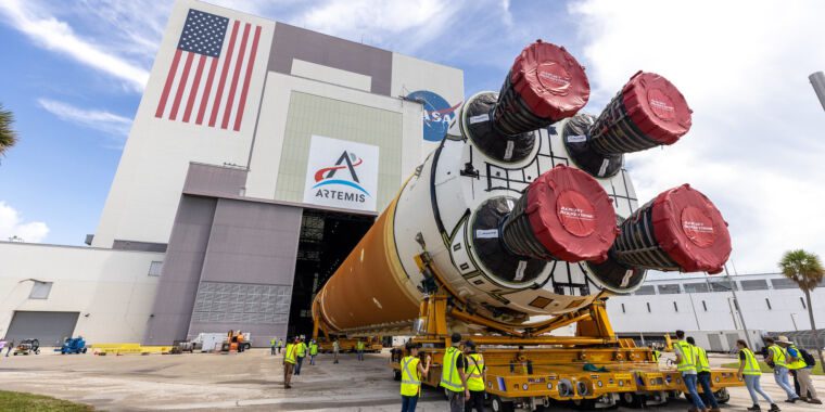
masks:
<path id="1" fill-rule="evenodd" d="M 302 209 L 218 199 L 190 337 L 241 329 L 255 346 L 283 338 L 295 273 Z"/>

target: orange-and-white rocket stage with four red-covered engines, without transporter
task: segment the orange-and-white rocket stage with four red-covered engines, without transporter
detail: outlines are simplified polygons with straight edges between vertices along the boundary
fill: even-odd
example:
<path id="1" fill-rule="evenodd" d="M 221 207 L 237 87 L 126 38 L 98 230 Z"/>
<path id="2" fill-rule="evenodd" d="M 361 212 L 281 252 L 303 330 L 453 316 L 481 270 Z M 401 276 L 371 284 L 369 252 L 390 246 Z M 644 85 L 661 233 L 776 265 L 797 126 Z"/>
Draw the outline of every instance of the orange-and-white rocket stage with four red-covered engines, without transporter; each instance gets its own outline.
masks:
<path id="1" fill-rule="evenodd" d="M 731 239 L 713 204 L 683 185 L 637 207 L 622 167 L 689 130 L 684 96 L 639 72 L 597 117 L 579 114 L 588 98 L 563 48 L 528 46 L 500 92 L 467 100 L 460 136 L 416 168 L 314 316 L 331 332 L 408 331 L 437 281 L 474 314 L 529 326 L 633 292 L 647 269 L 718 272 Z"/>

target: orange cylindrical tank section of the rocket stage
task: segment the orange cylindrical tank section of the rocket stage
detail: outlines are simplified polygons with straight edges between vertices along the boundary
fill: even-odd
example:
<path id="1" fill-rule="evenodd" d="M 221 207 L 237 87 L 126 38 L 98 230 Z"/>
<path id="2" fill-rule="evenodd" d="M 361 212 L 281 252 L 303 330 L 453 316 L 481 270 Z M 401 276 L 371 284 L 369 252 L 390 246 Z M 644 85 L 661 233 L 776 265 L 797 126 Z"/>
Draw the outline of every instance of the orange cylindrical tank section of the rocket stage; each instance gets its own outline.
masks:
<path id="1" fill-rule="evenodd" d="M 403 282 L 393 235 L 393 201 L 329 279 L 313 302 L 313 316 L 329 332 L 389 325 L 418 317 L 419 297 Z"/>

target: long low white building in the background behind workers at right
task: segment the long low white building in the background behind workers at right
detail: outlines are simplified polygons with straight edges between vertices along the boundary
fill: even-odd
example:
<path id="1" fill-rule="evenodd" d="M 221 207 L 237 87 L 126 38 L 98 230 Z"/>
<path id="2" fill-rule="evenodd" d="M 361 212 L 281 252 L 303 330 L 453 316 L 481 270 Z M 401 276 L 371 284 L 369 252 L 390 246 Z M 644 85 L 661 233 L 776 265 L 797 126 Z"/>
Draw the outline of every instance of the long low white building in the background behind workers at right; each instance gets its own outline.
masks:
<path id="1" fill-rule="evenodd" d="M 747 291 L 742 281 L 779 280 L 782 275 L 733 276 L 737 287 L 739 308 L 749 330 L 767 332 L 808 330 L 811 323 L 808 309 L 798 288 Z M 690 331 L 724 331 L 741 329 L 739 314 L 735 312 L 731 292 L 687 293 L 685 285 L 701 284 L 701 278 L 651 280 L 645 286 L 657 287 L 655 295 L 615 296 L 607 301 L 608 313 L 617 332 L 672 332 L 677 329 Z M 723 285 L 726 282 L 721 282 Z M 661 285 L 680 285 L 673 294 L 661 294 Z M 722 289 L 719 287 L 718 289 Z M 820 327 L 825 325 L 825 287 L 811 294 L 813 312 Z M 675 307 L 674 307 L 675 302 Z M 769 307 L 770 302 L 770 307 Z M 649 305 L 649 310 L 648 310 Z M 795 326 L 796 323 L 796 326 Z"/>

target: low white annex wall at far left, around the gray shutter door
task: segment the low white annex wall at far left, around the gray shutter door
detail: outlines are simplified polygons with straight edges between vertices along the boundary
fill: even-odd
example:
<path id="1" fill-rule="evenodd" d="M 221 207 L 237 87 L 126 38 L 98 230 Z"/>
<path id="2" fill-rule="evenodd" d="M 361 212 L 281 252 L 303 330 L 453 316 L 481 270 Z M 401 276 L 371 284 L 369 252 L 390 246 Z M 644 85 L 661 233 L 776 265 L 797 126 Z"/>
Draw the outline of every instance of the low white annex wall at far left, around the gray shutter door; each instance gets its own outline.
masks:
<path id="1" fill-rule="evenodd" d="M 0 242 L 0 336 L 14 311 L 79 312 L 74 335 L 90 344 L 140 342 L 164 254 Z M 33 281 L 53 282 L 48 298 L 30 299 Z"/>

